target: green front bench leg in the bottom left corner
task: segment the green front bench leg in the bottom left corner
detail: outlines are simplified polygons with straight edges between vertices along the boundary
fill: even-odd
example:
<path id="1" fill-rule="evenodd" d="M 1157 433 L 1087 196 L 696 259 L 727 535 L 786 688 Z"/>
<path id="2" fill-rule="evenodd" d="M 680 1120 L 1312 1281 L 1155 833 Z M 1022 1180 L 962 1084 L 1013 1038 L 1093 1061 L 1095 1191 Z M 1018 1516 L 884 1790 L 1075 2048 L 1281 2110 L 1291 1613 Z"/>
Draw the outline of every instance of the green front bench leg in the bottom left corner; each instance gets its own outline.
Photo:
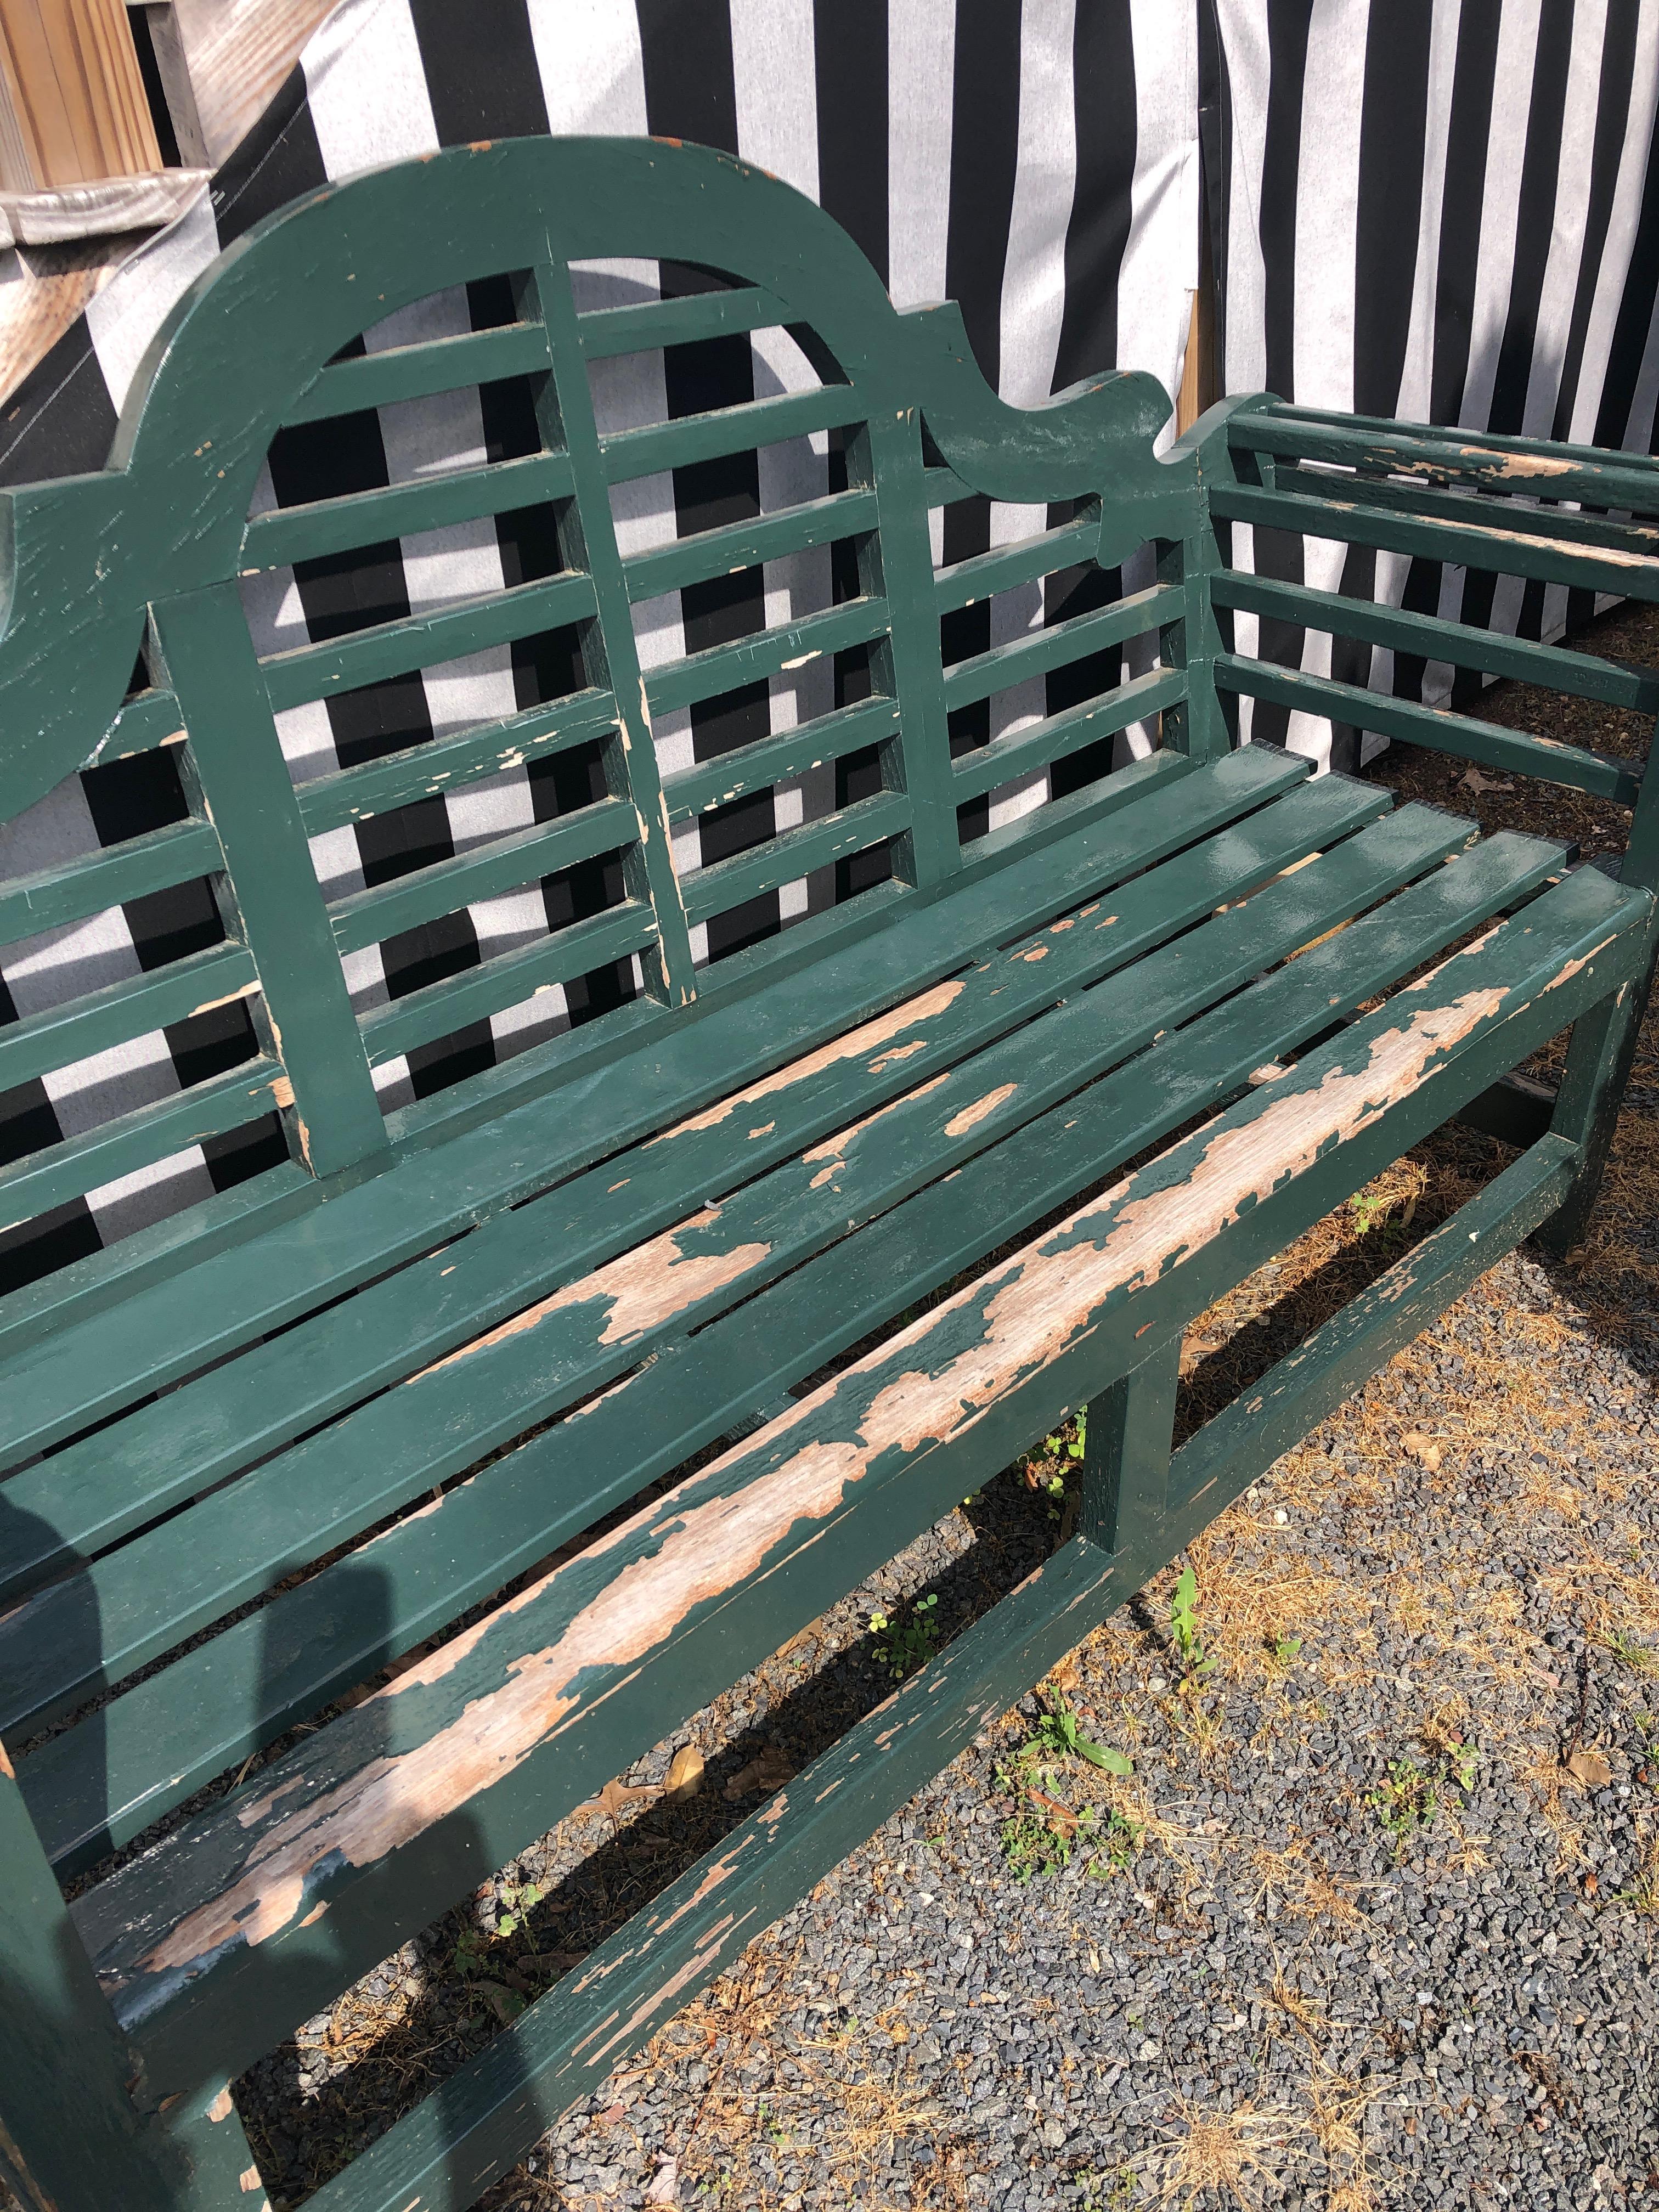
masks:
<path id="1" fill-rule="evenodd" d="M 133 2073 L 0 1750 L 0 2177 L 24 2212 L 261 2212 L 230 2090 L 144 2112 Z"/>

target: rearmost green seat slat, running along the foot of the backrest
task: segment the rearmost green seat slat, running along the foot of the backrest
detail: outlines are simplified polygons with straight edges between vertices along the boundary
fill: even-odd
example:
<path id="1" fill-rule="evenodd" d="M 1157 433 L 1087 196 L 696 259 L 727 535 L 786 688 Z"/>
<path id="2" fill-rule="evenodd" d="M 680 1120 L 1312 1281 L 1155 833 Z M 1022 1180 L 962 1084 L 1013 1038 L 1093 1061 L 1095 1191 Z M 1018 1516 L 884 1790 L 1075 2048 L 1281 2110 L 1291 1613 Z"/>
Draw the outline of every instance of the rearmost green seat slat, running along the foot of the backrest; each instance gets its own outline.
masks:
<path id="1" fill-rule="evenodd" d="M 1091 821 L 1051 847 L 969 876 L 960 891 L 911 907 L 878 942 L 838 947 L 814 964 L 812 993 L 787 980 L 748 991 L 730 1006 L 710 993 L 699 1022 L 568 1077 L 555 1097 L 524 1099 L 489 1128 L 398 1157 L 396 1192 L 378 1175 L 361 1188 L 332 1190 L 314 1219 L 285 1221 L 181 1281 L 146 1285 L 113 1312 L 100 1310 L 40 1343 L 24 1340 L 0 1365 L 0 1469 L 522 1206 L 664 1121 L 695 1115 L 734 1086 L 816 1051 L 905 993 L 929 989 L 964 960 L 1077 905 L 1102 872 L 1137 865 L 1126 856 L 1166 858 L 1307 774 L 1307 761 L 1265 745 L 1201 770 L 1179 754 L 1150 754 L 1113 779 L 1119 816 L 1110 827 Z M 511 1296 L 513 1285 L 507 1290 Z"/>

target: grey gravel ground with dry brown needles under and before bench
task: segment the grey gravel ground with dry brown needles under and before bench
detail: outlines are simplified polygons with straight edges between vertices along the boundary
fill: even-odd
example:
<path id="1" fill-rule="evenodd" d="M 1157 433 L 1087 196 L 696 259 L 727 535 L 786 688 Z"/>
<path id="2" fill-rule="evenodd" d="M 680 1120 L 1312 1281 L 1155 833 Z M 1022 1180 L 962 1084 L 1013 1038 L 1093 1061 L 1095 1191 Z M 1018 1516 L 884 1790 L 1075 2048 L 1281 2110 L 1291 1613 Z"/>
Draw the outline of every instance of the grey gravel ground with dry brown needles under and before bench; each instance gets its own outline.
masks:
<path id="1" fill-rule="evenodd" d="M 1659 659 L 1659 617 L 1597 648 Z M 1626 721 L 1571 734 L 1630 750 Z M 1383 772 L 1489 827 L 1621 836 L 1608 807 L 1471 799 L 1460 763 Z M 1203 1316 L 1181 1427 L 1509 1157 L 1433 1139 Z M 243 2077 L 272 2203 L 1011 1588 L 1068 1467 L 1062 1436 L 989 1484 Z M 1201 1650 L 1170 1568 L 487 2212 L 1659 2201 L 1657 1467 L 1659 1020 L 1586 1250 L 1495 1267 L 1192 1546 Z"/>

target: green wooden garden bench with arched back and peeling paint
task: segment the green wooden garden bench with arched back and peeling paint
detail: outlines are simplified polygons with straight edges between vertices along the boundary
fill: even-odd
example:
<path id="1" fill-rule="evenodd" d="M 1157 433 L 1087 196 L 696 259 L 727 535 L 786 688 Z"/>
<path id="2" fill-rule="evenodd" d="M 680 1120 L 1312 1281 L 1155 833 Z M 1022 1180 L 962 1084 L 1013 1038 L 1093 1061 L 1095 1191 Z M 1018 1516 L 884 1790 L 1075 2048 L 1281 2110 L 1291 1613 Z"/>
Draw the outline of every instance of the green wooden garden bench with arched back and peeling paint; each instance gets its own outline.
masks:
<path id="1" fill-rule="evenodd" d="M 717 274 L 577 312 L 568 265 L 602 257 Z M 502 274 L 509 321 L 356 347 Z M 595 427 L 588 365 L 779 327 L 821 380 Z M 250 520 L 281 425 L 504 378 L 531 378 L 540 451 Z M 1641 712 L 1655 679 L 1245 573 L 1230 531 L 1659 597 L 1655 529 L 1619 520 L 1659 513 L 1659 471 L 1265 398 L 1155 458 L 1166 414 L 1144 376 L 1000 405 L 953 307 L 894 314 L 827 217 L 723 155 L 513 142 L 261 226 L 179 303 L 111 467 L 7 498 L 0 814 L 153 748 L 184 812 L 0 889 L 4 942 L 186 880 L 223 931 L 2 1029 L 0 1086 L 234 995 L 252 1042 L 13 1161 L 0 1219 L 265 1115 L 288 1137 L 0 1305 L 24 2205 L 263 2201 L 239 2070 L 1086 1405 L 1048 1564 L 312 2199 L 471 2203 L 1484 1267 L 1577 1234 L 1655 960 L 1659 805 L 1628 763 L 1234 650 L 1237 619 Z M 843 469 L 823 498 L 619 549 L 608 487 L 810 434 Z M 929 513 L 971 493 L 1037 526 L 938 566 Z M 538 504 L 551 573 L 250 641 L 248 573 Z M 1148 544 L 1146 588 L 947 664 L 945 617 Z M 841 549 L 838 597 L 641 672 L 630 606 L 805 546 Z M 283 763 L 276 714 L 571 628 L 573 690 L 312 781 Z M 1137 637 L 1155 664 L 1117 684 Z M 867 695 L 659 768 L 653 717 L 814 655 Z M 964 743 L 1033 679 L 1044 710 Z M 1635 805 L 1624 874 L 1234 745 L 1239 695 Z M 1152 717 L 1157 750 L 1115 765 Z M 584 803 L 323 896 L 310 841 L 564 757 L 595 763 Z M 677 825 L 854 759 L 827 812 L 677 872 Z M 1048 803 L 987 827 L 1033 770 Z M 885 865 L 834 876 L 860 854 Z M 597 858 L 593 911 L 354 1009 L 343 958 Z M 841 896 L 699 964 L 710 916 L 814 872 Z M 383 1110 L 396 1055 L 595 971 L 637 989 Z M 1557 1095 L 1509 1082 L 1568 1026 Z M 1183 1327 L 1458 1115 L 1513 1164 L 1172 1453 Z"/>

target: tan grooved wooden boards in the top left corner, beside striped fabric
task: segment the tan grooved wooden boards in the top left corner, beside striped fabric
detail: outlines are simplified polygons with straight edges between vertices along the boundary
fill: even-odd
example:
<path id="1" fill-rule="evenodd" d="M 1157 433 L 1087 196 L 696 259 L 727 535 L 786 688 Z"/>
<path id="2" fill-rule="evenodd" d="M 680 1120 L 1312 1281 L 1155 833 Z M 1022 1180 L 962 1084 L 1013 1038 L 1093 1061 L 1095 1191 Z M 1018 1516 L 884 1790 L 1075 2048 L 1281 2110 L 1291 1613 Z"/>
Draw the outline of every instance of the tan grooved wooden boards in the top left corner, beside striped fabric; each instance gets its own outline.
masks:
<path id="1" fill-rule="evenodd" d="M 0 0 L 0 190 L 161 168 L 122 0 Z"/>

